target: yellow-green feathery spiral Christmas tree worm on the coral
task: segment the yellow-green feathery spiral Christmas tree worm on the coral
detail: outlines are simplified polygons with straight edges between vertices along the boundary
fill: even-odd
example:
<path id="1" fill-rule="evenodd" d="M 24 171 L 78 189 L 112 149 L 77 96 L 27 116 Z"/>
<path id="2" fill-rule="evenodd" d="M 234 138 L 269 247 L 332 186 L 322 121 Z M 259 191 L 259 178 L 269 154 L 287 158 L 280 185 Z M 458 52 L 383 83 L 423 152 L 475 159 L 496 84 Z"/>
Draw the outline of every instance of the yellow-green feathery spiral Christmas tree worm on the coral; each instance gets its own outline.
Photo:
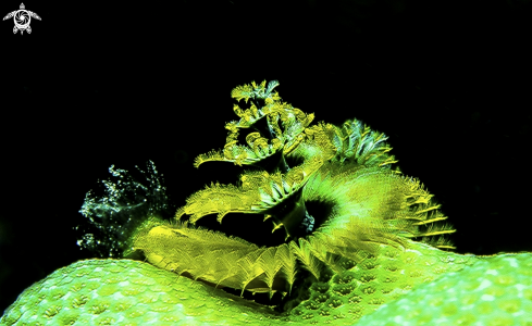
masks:
<path id="1" fill-rule="evenodd" d="M 224 149 L 199 155 L 195 166 L 222 161 L 256 170 L 244 172 L 238 186 L 216 183 L 193 193 L 177 210 L 175 223 L 153 223 L 138 234 L 134 248 L 150 263 L 216 286 L 284 296 L 298 268 L 320 279 L 325 271 L 341 273 L 382 246 L 407 248 L 410 238 L 429 242 L 454 231 L 436 225 L 447 217 L 432 195 L 392 168 L 397 160 L 384 134 L 357 120 L 339 127 L 311 125 L 313 114 L 282 102 L 273 92 L 276 86 L 276 80 L 268 86 L 264 80 L 233 89 L 232 97 L 249 108 L 235 104 L 240 118 L 226 124 Z M 242 129 L 251 129 L 247 145 L 238 143 Z M 289 166 L 288 161 L 299 164 Z M 311 215 L 309 202 L 330 205 L 330 214 Z M 285 243 L 259 248 L 193 227 L 206 215 L 216 214 L 222 223 L 230 213 L 264 214 L 272 231 L 286 233 Z M 442 237 L 431 243 L 453 248 Z"/>

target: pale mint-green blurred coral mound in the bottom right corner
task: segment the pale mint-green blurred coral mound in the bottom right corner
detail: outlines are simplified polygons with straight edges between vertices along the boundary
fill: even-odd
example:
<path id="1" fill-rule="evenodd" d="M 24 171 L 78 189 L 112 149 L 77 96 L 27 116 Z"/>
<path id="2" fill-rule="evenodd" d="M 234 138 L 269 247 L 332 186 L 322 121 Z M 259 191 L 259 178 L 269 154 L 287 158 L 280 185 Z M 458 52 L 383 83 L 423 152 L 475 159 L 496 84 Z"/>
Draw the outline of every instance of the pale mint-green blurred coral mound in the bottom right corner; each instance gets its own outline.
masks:
<path id="1" fill-rule="evenodd" d="M 482 259 L 383 305 L 360 325 L 532 325 L 532 254 Z"/>

